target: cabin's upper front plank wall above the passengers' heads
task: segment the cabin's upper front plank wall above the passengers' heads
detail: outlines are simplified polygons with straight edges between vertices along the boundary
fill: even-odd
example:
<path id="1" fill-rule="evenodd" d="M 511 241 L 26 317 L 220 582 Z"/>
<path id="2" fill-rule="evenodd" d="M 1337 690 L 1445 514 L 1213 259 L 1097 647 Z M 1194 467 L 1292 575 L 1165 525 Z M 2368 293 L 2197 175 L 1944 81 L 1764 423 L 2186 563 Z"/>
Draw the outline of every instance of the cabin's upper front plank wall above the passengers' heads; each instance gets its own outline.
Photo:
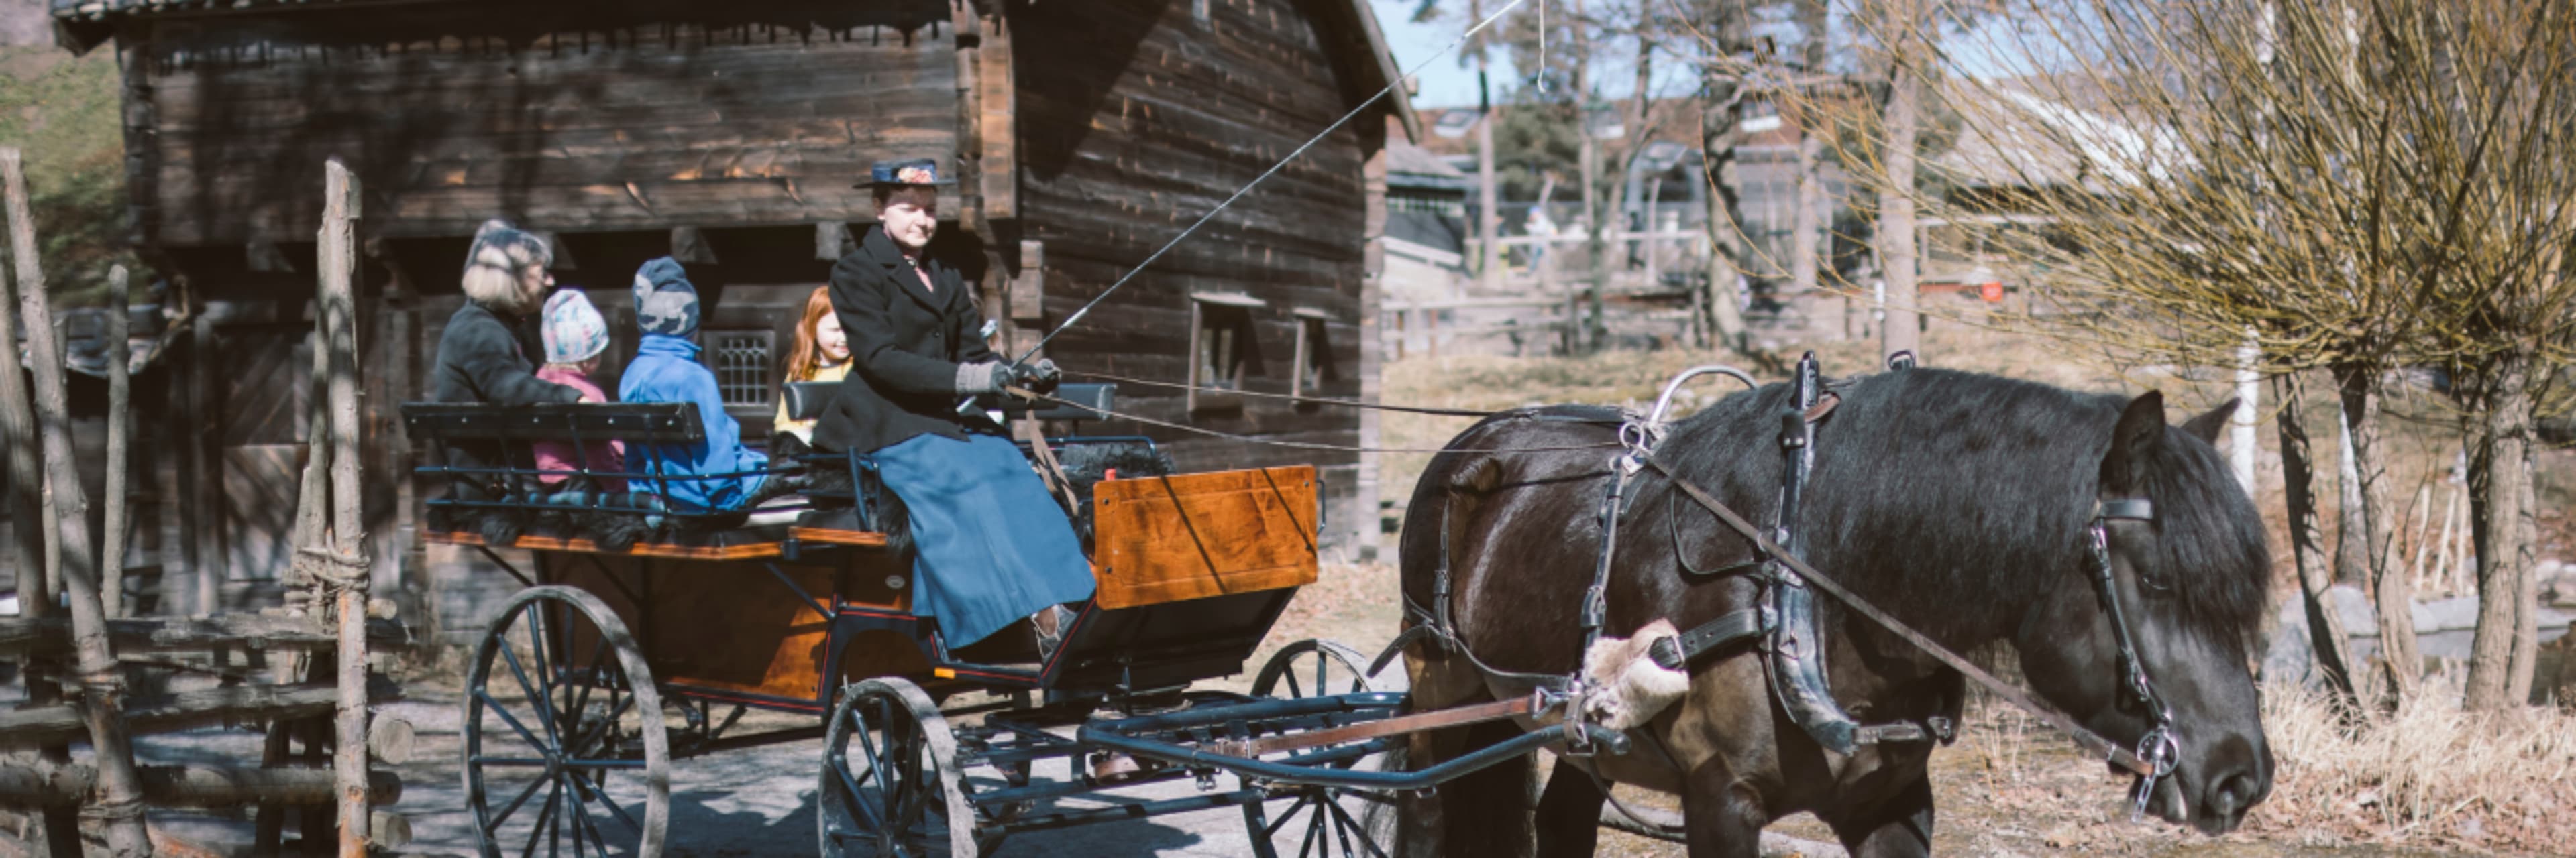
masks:
<path id="1" fill-rule="evenodd" d="M 868 162 L 956 155 L 945 3 L 307 8 L 147 18 L 129 157 L 162 245 L 309 240 L 325 157 L 379 237 L 860 219 Z M 677 21 L 677 23 L 675 23 Z M 896 23 L 912 23 L 899 28 Z"/>

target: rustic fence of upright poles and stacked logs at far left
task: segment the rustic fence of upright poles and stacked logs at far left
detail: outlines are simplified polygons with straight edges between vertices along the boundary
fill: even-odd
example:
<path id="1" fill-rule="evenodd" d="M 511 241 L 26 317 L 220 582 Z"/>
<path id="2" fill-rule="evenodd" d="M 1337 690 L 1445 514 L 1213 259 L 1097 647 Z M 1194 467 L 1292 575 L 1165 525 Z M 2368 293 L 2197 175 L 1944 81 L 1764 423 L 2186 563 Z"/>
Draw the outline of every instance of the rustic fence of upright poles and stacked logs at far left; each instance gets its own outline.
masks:
<path id="1" fill-rule="evenodd" d="M 358 518 L 358 368 L 353 301 L 353 219 L 358 188 L 348 170 L 327 165 L 330 201 L 319 234 L 319 335 L 314 384 L 322 386 L 314 420 L 307 505 L 296 546 L 304 593 L 286 611 L 121 618 L 126 464 L 124 435 L 131 423 L 126 397 L 124 343 L 111 343 L 108 495 L 103 497 L 106 544 L 93 541 L 88 497 L 72 456 L 62 348 L 54 338 L 44 271 L 36 258 L 36 232 L 28 216 L 26 175 L 18 149 L 0 149 L 0 191 L 10 219 L 15 289 L 0 278 L 0 441 L 8 446 L 8 490 L 15 528 L 10 549 L 18 557 L 15 618 L 0 618 L 0 660 L 13 660 L 28 685 L 26 706 L 0 711 L 0 812 L 28 812 L 41 822 L 54 858 L 82 855 L 85 835 L 106 843 L 116 858 L 152 855 L 155 848 L 188 853 L 180 843 L 147 830 L 144 806 L 258 806 L 255 853 L 276 855 L 283 845 L 283 814 L 307 806 L 304 850 L 327 845 L 348 858 L 366 855 L 371 840 L 402 845 L 410 825 L 374 812 L 402 796 L 389 770 L 371 770 L 368 758 L 402 763 L 410 724 L 368 719 L 371 703 L 399 691 L 371 675 L 368 652 L 407 647 L 407 631 L 368 603 L 368 562 Z M 124 304 L 126 271 L 108 276 L 111 301 Z M 124 307 L 111 307 L 121 319 Z M 23 319 L 23 325 L 13 325 Z M 15 371 L 21 348 L 13 327 L 26 330 L 26 356 L 33 386 Z M 111 330 L 121 338 L 121 327 Z M 41 466 L 36 456 L 41 451 Z M 327 474 L 327 479 L 325 479 Z M 41 497 L 41 502 L 28 502 Z M 41 515 L 33 515 L 41 508 Z M 330 513 L 330 515 L 325 515 Z M 41 520 L 36 520 L 41 518 Z M 39 562 L 39 557 L 44 562 Z M 59 575 L 49 575 L 59 567 Z M 54 590 L 59 582 L 59 590 Z M 59 600 L 59 605 L 57 605 Z M 54 611 L 70 608 L 67 616 Z M 371 611 L 379 608 L 379 611 Z M 376 616 L 371 616 L 376 613 Z M 258 683 L 232 654 L 270 654 L 283 662 L 281 680 Z M 134 670 L 183 670 L 222 678 L 216 688 L 131 696 Z M 201 727 L 258 727 L 268 742 L 260 760 L 242 765 L 137 765 L 134 734 L 183 732 Z M 294 742 L 304 752 L 294 752 Z M 70 747 L 93 747 L 75 760 Z M 335 809 L 335 812 L 332 812 Z M 85 819 L 95 825 L 85 832 Z M 325 835 L 332 832 L 332 835 Z M 332 843 L 335 840 L 335 843 Z M 5 853 L 5 850 L 0 850 Z"/>

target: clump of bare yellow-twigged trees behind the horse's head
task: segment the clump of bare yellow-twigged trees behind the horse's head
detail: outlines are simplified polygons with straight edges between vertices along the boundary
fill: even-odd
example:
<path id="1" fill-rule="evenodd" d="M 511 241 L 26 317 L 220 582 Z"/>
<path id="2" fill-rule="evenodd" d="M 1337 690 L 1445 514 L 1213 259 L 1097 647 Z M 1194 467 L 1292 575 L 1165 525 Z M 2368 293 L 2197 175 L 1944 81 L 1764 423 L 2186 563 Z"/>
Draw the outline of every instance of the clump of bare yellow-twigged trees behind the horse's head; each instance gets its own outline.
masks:
<path id="1" fill-rule="evenodd" d="M 1971 124 L 2009 139 L 1984 204 L 2053 224 L 1996 234 L 2053 307 L 2043 322 L 2138 363 L 2321 368 L 2349 433 L 2380 670 L 2414 691 L 2409 575 L 2391 554 L 2383 379 L 2434 363 L 2478 428 L 2481 652 L 2473 706 L 2527 688 L 2530 412 L 2563 361 L 2576 26 L 2561 5 L 2344 0 L 2130 5 L 2030 15 L 2030 75 L 1976 88 Z M 1924 201 L 1940 206 L 1940 201 Z M 2313 459 L 2285 381 L 2282 456 L 2303 590 L 2324 585 Z M 2522 523 L 2517 523 L 2522 520 Z M 2306 523 L 2306 526 L 2303 526 Z M 2321 605 L 2311 605 L 2316 613 Z M 2331 667 L 2329 667 L 2331 670 Z M 2514 678 L 2519 675 L 2519 685 Z"/>

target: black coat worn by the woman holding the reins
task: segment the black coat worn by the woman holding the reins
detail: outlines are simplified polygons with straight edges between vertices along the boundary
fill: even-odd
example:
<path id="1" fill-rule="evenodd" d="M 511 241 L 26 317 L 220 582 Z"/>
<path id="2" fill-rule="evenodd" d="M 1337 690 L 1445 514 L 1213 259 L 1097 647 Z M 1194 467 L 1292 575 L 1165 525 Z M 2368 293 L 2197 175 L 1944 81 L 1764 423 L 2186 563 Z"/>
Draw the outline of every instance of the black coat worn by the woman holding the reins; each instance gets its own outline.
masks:
<path id="1" fill-rule="evenodd" d="M 966 438 L 956 415 L 958 363 L 999 361 L 984 338 L 974 291 L 940 260 L 925 289 L 894 237 L 868 227 L 858 250 L 832 263 L 832 312 L 850 335 L 850 376 L 824 405 L 814 446 L 873 453 L 935 433 Z"/>

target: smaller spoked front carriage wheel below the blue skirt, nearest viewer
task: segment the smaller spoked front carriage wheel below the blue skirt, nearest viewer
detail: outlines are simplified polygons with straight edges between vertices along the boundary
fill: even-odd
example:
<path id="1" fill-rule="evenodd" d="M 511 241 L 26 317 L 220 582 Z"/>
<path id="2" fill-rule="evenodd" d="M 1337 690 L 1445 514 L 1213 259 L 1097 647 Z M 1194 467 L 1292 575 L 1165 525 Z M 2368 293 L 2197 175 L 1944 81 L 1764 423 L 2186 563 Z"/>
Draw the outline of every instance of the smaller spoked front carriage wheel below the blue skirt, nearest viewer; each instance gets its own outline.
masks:
<path id="1" fill-rule="evenodd" d="M 814 788 L 822 853 L 840 858 L 976 858 L 974 804 L 940 706 L 899 678 L 850 685 L 832 706 Z"/>

